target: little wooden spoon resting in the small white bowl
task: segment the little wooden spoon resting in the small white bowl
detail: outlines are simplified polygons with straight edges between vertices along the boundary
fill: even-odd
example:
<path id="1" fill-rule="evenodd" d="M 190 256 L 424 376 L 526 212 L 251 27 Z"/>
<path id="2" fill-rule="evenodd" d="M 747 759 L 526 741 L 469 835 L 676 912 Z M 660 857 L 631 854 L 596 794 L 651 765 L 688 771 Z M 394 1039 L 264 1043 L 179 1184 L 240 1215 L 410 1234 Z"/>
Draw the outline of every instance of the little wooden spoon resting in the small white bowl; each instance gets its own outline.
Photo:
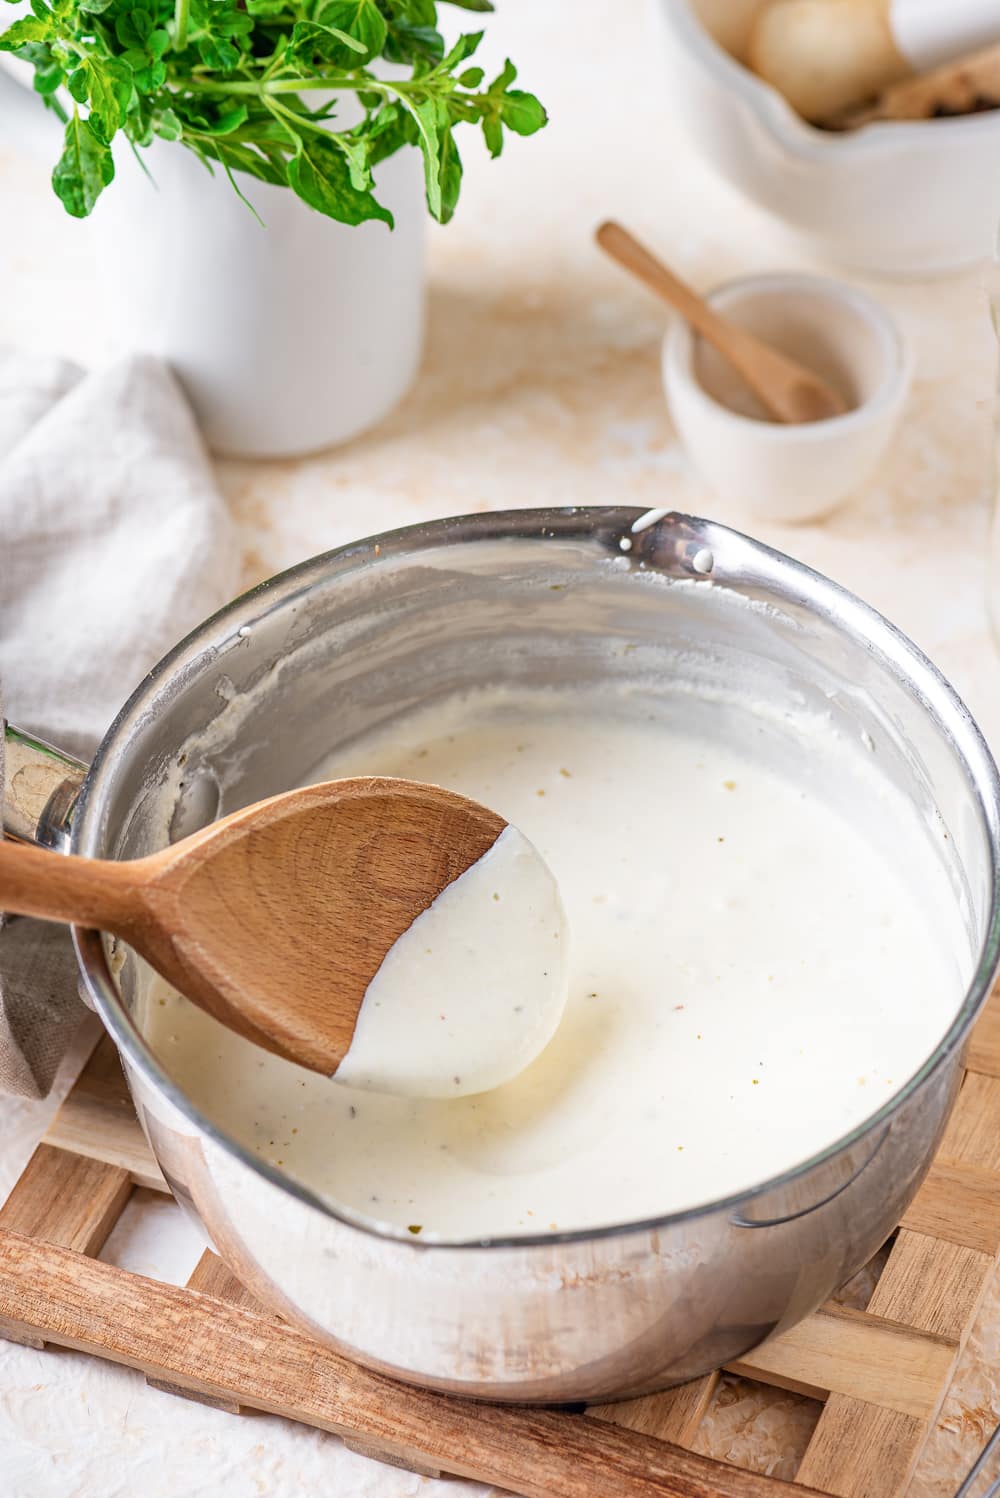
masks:
<path id="1" fill-rule="evenodd" d="M 792 424 L 843 416 L 847 401 L 819 374 L 720 318 L 690 286 L 657 261 L 620 223 L 602 223 L 597 244 L 669 303 L 743 376 L 775 421 Z"/>

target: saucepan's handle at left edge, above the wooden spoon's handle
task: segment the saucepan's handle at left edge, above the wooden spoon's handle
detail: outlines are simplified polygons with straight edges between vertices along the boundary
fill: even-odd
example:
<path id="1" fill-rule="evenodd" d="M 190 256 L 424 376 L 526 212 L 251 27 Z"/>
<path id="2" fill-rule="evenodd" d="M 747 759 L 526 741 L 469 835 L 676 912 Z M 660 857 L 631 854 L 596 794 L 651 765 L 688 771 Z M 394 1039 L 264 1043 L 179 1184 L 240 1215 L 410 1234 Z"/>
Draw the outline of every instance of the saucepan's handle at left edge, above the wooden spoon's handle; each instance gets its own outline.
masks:
<path id="1" fill-rule="evenodd" d="M 3 725 L 3 831 L 66 852 L 87 765 L 42 739 Z"/>

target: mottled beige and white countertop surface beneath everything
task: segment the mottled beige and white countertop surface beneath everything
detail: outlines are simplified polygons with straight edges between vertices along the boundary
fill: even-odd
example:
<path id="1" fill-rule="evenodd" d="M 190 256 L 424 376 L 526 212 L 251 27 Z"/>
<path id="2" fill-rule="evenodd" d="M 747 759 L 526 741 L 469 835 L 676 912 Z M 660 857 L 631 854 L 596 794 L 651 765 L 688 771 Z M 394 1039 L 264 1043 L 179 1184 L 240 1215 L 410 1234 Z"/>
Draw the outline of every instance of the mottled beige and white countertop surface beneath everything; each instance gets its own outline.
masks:
<path id="1" fill-rule="evenodd" d="M 714 500 L 689 469 L 660 389 L 663 313 L 590 235 L 617 216 L 699 286 L 823 267 L 690 157 L 641 0 L 499 0 L 490 33 L 490 57 L 515 57 L 552 123 L 534 141 L 512 139 L 497 163 L 470 141 L 458 217 L 431 232 L 427 355 L 398 412 L 340 451 L 219 466 L 246 581 L 359 535 L 463 511 L 629 503 L 711 514 L 883 610 L 952 677 L 1000 748 L 1000 664 L 985 613 L 994 348 L 981 279 L 868 283 L 915 355 L 898 439 L 826 523 L 760 524 Z M 45 166 L 4 138 L 1 120 L 0 222 L 0 340 L 103 360 L 87 231 L 64 217 Z M 0 1100 L 0 1195 L 49 1110 Z M 175 1275 L 196 1252 L 168 1203 L 130 1213 L 106 1251 Z M 994 1291 L 913 1486 L 921 1498 L 949 1494 L 1000 1419 L 999 1342 Z M 740 1461 L 756 1446 L 769 1471 L 790 1476 L 811 1419 L 795 1396 L 762 1402 L 734 1384 L 705 1440 Z M 455 1491 L 277 1419 L 237 1422 L 172 1401 L 126 1369 L 4 1344 L 0 1450 L 13 1464 L 10 1498 Z"/>

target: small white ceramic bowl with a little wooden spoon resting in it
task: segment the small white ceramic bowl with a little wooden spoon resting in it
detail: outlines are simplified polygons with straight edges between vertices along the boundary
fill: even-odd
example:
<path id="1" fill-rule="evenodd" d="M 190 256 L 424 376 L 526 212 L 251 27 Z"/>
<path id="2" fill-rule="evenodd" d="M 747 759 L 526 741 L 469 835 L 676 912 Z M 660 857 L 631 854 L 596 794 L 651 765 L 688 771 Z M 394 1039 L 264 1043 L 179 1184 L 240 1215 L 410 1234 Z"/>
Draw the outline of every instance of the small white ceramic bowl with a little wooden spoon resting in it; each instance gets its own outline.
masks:
<path id="1" fill-rule="evenodd" d="M 828 514 L 868 478 L 889 445 L 910 383 L 895 324 L 865 292 L 820 276 L 750 276 L 710 304 L 829 379 L 850 410 L 829 421 L 769 421 L 740 376 L 675 318 L 663 383 L 692 463 L 723 497 L 771 520 Z"/>

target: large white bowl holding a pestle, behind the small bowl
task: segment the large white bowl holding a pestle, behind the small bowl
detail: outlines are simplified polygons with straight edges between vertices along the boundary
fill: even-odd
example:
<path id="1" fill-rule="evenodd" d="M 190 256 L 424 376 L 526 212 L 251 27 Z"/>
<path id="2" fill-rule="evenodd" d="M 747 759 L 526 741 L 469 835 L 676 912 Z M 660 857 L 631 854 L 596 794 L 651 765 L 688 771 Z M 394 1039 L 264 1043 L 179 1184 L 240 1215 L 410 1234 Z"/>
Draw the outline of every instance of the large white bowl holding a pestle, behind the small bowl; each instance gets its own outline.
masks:
<path id="1" fill-rule="evenodd" d="M 657 0 L 666 97 L 693 148 L 843 265 L 921 274 L 990 255 L 1000 220 L 1000 111 L 819 130 L 716 40 L 738 49 L 757 4 Z"/>

